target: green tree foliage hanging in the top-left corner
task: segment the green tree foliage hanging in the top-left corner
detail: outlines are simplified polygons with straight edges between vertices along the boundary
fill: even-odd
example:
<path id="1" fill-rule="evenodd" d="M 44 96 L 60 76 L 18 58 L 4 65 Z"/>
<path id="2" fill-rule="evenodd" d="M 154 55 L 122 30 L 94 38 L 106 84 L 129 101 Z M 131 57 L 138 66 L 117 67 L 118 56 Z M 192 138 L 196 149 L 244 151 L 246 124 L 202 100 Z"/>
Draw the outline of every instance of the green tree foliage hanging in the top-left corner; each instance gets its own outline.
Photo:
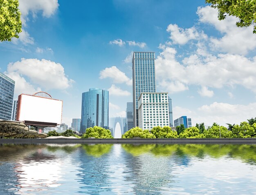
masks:
<path id="1" fill-rule="evenodd" d="M 0 41 L 11 41 L 19 38 L 21 32 L 20 11 L 18 0 L 0 0 Z"/>

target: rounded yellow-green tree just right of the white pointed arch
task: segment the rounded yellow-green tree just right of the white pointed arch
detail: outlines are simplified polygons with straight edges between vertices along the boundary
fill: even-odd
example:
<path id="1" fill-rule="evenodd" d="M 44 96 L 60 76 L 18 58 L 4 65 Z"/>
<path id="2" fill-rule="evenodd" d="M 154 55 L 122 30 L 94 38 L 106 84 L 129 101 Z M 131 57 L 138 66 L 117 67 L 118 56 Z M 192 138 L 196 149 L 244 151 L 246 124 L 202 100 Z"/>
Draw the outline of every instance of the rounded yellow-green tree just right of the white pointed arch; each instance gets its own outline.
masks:
<path id="1" fill-rule="evenodd" d="M 142 130 L 139 127 L 135 127 L 126 131 L 122 138 L 133 138 L 133 137 L 140 137 L 140 138 L 156 138 L 155 135 L 149 133 L 148 130 Z"/>

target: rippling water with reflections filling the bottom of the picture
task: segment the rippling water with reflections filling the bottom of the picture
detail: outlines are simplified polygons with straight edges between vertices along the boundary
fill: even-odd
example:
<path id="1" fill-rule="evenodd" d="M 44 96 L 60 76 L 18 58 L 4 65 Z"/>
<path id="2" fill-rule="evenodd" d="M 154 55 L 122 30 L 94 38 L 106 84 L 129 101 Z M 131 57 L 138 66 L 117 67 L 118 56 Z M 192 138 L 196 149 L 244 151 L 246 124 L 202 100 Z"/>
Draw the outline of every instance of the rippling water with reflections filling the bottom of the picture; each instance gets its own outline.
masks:
<path id="1" fill-rule="evenodd" d="M 0 195 L 256 194 L 256 145 L 0 145 Z"/>

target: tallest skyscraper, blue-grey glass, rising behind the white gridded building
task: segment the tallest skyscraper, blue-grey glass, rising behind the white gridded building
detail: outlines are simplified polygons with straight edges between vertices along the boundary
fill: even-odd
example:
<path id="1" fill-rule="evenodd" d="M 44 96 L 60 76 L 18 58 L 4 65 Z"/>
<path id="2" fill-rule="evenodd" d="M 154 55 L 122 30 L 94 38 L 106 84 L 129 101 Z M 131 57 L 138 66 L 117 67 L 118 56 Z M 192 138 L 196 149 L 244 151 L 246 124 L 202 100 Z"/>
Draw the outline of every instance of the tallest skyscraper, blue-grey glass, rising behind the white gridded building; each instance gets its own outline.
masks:
<path id="1" fill-rule="evenodd" d="M 155 52 L 134 52 L 132 57 L 133 126 L 139 124 L 138 99 L 143 92 L 155 92 Z"/>

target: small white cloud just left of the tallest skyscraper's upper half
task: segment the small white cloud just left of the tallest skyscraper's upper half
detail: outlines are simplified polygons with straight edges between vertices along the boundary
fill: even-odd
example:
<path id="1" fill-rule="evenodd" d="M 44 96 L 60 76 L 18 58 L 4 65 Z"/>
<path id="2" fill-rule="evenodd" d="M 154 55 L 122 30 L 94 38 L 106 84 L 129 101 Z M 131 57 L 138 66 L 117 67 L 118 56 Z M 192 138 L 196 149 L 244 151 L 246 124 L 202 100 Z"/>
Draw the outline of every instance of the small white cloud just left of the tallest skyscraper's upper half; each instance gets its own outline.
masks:
<path id="1" fill-rule="evenodd" d="M 100 71 L 100 79 L 111 78 L 114 83 L 126 83 L 132 85 L 132 79 L 128 78 L 124 72 L 120 71 L 116 66 L 106 68 Z"/>

